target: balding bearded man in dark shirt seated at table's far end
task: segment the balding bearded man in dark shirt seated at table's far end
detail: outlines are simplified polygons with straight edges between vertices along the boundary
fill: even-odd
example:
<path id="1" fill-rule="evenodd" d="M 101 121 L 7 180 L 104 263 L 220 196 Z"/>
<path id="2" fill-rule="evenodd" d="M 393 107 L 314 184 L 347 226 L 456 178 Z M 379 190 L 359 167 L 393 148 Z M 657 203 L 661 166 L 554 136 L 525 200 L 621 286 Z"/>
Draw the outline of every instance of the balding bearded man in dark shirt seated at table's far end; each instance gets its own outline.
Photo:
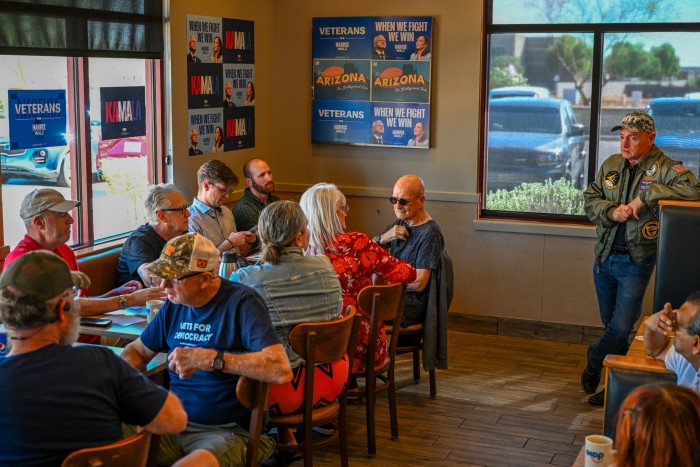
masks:
<path id="1" fill-rule="evenodd" d="M 275 191 L 275 180 L 272 178 L 272 170 L 262 159 L 250 159 L 243 164 L 243 176 L 248 184 L 243 197 L 238 200 L 233 209 L 233 217 L 236 219 L 236 226 L 241 230 L 250 230 L 258 225 L 260 212 L 270 203 L 279 201 L 279 198 L 272 193 Z M 260 250 L 260 242 L 255 243 L 250 248 L 250 254 Z"/>

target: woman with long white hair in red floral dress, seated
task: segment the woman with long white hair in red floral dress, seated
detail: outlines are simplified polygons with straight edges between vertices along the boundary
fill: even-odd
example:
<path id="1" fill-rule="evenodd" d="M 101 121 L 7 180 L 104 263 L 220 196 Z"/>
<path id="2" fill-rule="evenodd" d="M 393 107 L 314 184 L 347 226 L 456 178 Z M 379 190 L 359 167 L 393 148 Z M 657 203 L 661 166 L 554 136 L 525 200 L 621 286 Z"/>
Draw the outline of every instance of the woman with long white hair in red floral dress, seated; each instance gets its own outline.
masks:
<path id="1" fill-rule="evenodd" d="M 350 208 L 335 185 L 318 183 L 312 186 L 304 192 L 299 204 L 306 214 L 311 232 L 307 254 L 325 254 L 330 258 L 343 289 L 343 309 L 353 305 L 362 317 L 353 373 L 364 373 L 367 368 L 369 315 L 357 307 L 357 294 L 372 285 L 372 274 L 377 274 L 387 283 L 409 283 L 416 279 L 416 270 L 391 256 L 369 236 L 361 232 L 345 233 L 345 218 Z M 379 324 L 377 331 L 374 362 L 380 365 L 386 359 L 386 330 L 383 323 Z"/>

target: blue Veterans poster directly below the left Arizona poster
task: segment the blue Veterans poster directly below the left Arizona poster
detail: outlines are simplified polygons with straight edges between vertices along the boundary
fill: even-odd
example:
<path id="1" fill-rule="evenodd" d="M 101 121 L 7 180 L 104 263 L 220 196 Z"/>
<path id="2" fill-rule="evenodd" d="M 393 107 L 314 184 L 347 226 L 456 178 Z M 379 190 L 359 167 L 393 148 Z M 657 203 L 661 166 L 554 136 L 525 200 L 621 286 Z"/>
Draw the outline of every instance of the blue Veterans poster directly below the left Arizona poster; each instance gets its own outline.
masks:
<path id="1" fill-rule="evenodd" d="M 369 102 L 362 101 L 314 99 L 311 141 L 367 144 L 370 106 Z"/>

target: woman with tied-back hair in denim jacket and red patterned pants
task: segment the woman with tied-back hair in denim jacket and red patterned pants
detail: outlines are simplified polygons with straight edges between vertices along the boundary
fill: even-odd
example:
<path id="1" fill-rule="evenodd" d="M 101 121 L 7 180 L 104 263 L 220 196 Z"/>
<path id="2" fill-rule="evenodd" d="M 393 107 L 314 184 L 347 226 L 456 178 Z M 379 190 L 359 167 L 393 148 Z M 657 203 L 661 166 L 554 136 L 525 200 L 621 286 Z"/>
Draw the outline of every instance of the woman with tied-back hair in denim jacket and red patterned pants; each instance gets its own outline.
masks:
<path id="1" fill-rule="evenodd" d="M 294 201 L 277 201 L 258 220 L 260 262 L 231 275 L 231 280 L 255 289 L 265 301 L 272 324 L 292 365 L 293 383 L 274 384 L 270 413 L 298 412 L 304 402 L 304 359 L 292 350 L 289 333 L 299 323 L 331 321 L 340 316 L 340 282 L 325 256 L 304 256 L 309 244 L 306 217 Z M 316 406 L 334 401 L 347 383 L 347 357 L 316 367 Z"/>

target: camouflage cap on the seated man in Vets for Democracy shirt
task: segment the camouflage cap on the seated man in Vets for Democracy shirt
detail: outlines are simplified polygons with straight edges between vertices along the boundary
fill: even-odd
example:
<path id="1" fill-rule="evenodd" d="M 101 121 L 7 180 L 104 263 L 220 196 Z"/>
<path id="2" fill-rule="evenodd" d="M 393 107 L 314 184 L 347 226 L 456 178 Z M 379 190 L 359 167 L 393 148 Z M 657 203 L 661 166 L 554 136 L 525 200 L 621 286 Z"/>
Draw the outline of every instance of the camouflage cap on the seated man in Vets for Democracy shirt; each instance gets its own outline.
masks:
<path id="1" fill-rule="evenodd" d="M 208 238 L 190 232 L 166 243 L 160 258 L 146 269 L 163 279 L 179 279 L 195 272 L 215 271 L 218 267 L 216 246 Z"/>

